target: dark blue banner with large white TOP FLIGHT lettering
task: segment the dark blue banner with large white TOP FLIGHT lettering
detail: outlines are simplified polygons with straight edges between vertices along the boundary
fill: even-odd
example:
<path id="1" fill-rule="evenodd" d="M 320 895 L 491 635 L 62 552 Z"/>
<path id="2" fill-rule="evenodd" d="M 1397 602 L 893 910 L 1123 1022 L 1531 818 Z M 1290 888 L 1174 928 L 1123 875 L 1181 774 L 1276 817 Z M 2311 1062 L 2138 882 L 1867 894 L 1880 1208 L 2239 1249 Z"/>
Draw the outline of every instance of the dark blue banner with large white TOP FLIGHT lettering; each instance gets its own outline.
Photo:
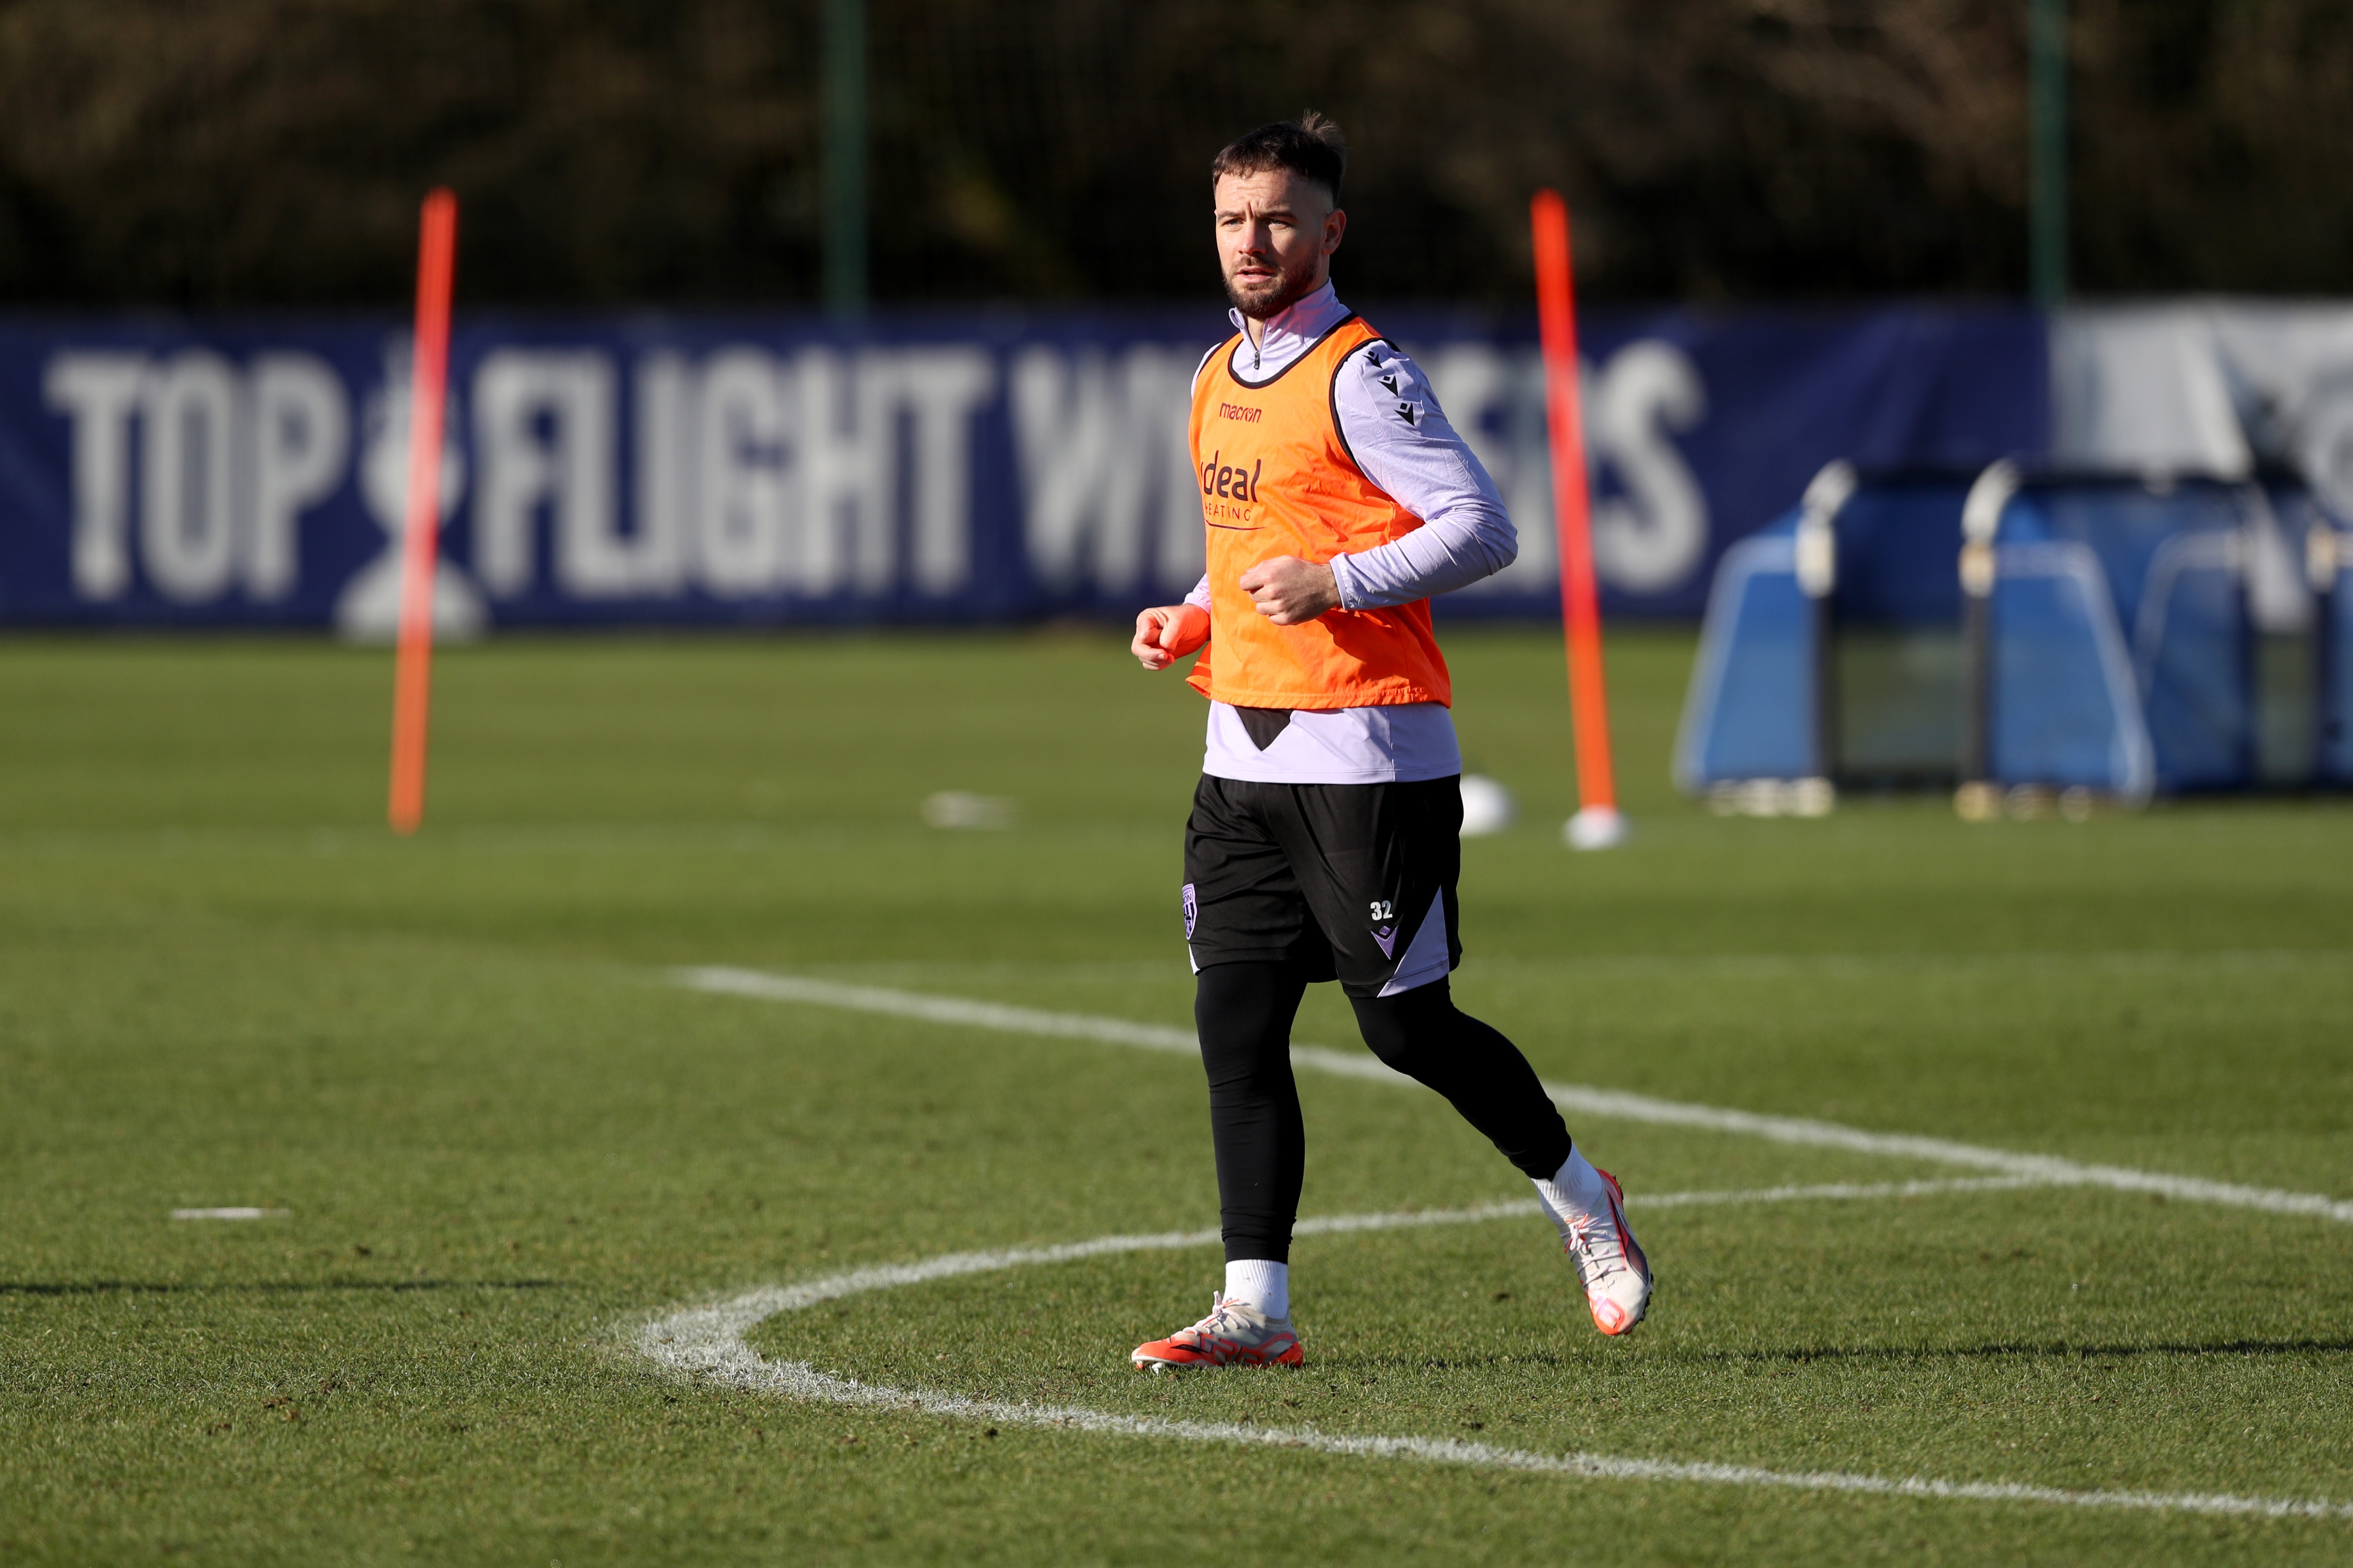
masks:
<path id="1" fill-rule="evenodd" d="M 1372 313 L 1494 473 L 1520 559 L 1457 614 L 1558 616 L 1532 320 Z M 522 625 L 1125 616 L 1200 574 L 1186 451 L 1217 310 L 459 320 L 435 616 Z M 1584 324 L 1607 614 L 1697 616 L 1831 458 L 2040 456 L 2024 310 Z M 393 317 L 0 322 L 0 623 L 388 635 Z"/>

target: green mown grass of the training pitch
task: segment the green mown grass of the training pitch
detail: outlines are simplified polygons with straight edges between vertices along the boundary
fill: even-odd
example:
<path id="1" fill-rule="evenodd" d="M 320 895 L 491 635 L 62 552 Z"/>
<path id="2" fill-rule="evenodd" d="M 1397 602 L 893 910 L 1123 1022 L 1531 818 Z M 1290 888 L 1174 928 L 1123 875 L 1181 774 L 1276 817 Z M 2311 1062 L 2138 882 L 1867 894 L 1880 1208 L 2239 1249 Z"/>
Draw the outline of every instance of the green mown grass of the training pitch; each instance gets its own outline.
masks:
<path id="1" fill-rule="evenodd" d="M 1689 637 L 1612 644 L 1633 842 L 1560 849 L 1558 642 L 1454 632 L 1464 1004 L 1558 1081 L 2353 1197 L 2353 816 L 1666 788 Z M 1217 1222 L 1200 1070 L 713 997 L 736 964 L 1188 1020 L 1200 703 L 1101 632 L 0 644 L 5 1563 L 2344 1563 L 2353 1519 L 1595 1481 L 664 1375 L 656 1314 Z M 1009 797 L 944 832 L 934 790 Z M 1329 987 L 1301 1041 L 1355 1046 Z M 1306 1213 L 1525 1182 L 1433 1095 L 1304 1077 Z M 1967 1171 L 1572 1119 L 1645 1192 Z M 266 1206 L 252 1222 L 184 1206 Z M 1777 1472 L 2353 1502 L 2353 1227 L 2108 1190 L 1635 1211 L 1600 1340 L 1541 1220 L 1318 1237 L 1308 1366 L 1141 1378 L 1212 1248 L 769 1319 L 774 1359 L 1125 1415 Z"/>

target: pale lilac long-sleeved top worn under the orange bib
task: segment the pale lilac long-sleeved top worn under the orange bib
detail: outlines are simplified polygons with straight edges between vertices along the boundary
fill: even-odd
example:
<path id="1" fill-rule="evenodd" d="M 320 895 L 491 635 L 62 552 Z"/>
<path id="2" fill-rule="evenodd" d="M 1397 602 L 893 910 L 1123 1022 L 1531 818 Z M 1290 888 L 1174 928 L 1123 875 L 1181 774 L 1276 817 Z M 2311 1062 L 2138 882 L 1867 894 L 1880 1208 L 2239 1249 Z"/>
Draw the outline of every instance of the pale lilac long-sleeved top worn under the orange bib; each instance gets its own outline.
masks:
<path id="1" fill-rule="evenodd" d="M 1238 381 L 1271 381 L 1322 334 L 1348 320 L 1332 284 L 1271 315 L 1252 346 L 1242 313 L 1228 313 L 1242 341 L 1233 348 Z M 1217 353 L 1214 348 L 1209 353 Z M 1508 567 L 1520 538 L 1494 480 L 1447 423 L 1421 367 L 1395 346 L 1381 362 L 1348 355 L 1332 388 L 1341 435 L 1358 468 L 1421 527 L 1405 538 L 1332 557 L 1341 609 L 1381 609 L 1452 592 Z M 1207 364 L 1202 355 L 1202 364 Z M 1193 371 L 1195 381 L 1200 371 Z M 1209 609 L 1202 576 L 1188 604 Z M 1259 783 L 1391 783 L 1461 773 L 1454 719 L 1442 703 L 1294 710 L 1261 750 L 1226 703 L 1209 703 L 1200 771 Z"/>

